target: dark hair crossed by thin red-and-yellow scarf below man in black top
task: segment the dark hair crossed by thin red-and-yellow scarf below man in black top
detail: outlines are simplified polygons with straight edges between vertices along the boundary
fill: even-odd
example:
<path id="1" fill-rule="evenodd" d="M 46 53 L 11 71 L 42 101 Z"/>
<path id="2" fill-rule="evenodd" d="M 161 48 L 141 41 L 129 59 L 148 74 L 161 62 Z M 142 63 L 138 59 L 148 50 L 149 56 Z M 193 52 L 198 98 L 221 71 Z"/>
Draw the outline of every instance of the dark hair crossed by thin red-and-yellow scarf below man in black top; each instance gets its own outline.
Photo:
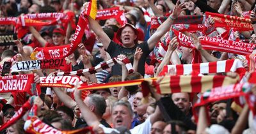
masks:
<path id="1" fill-rule="evenodd" d="M 140 77 L 141 77 L 141 74 L 135 71 L 135 72 L 127 75 L 127 77 L 125 78 L 125 81 L 126 80 L 136 80 L 136 79 L 139 79 Z M 135 94 L 138 91 L 139 86 L 137 86 L 137 85 L 136 86 L 125 86 L 125 89 L 127 89 L 127 91 L 130 94 Z"/>

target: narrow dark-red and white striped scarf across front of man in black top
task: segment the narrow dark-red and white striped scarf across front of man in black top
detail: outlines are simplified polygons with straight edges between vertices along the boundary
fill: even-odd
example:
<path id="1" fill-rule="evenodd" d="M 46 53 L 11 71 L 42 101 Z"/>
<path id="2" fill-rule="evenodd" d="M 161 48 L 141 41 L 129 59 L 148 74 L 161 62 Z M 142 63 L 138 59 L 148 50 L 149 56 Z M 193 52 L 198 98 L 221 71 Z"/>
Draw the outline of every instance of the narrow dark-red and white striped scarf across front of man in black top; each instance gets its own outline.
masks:
<path id="1" fill-rule="evenodd" d="M 125 63 L 125 66 L 126 66 L 129 73 L 132 73 L 134 71 L 132 69 L 131 62 L 127 57 L 125 57 L 125 59 L 123 59 L 122 62 Z M 91 74 L 97 73 L 99 71 L 106 70 L 107 68 L 109 68 L 111 66 L 114 66 L 114 64 L 116 64 L 116 57 L 114 57 L 113 59 L 109 59 L 105 63 L 98 64 L 97 66 L 92 67 L 92 68 L 86 68 L 84 70 L 77 70 L 77 71 L 58 72 L 58 73 L 54 73 L 54 74 L 57 75 L 57 76 L 63 76 L 63 75 L 91 75 Z"/>

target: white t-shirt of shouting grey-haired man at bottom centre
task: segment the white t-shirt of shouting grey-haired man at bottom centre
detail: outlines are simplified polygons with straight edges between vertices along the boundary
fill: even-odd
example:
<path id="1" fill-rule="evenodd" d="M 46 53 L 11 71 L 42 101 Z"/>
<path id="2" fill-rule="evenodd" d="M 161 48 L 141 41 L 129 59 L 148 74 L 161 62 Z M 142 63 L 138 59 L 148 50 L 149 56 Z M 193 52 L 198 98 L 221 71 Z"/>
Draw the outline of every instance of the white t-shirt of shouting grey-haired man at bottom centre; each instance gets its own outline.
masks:
<path id="1" fill-rule="evenodd" d="M 152 124 L 150 123 L 150 117 L 146 119 L 146 121 L 142 124 L 139 124 L 138 126 L 135 126 L 130 131 L 132 134 L 148 134 L 150 133 Z M 116 131 L 116 133 L 120 133 L 115 128 L 106 128 L 103 124 L 99 124 L 99 127 L 102 128 L 104 133 L 111 133 L 112 131 Z"/>

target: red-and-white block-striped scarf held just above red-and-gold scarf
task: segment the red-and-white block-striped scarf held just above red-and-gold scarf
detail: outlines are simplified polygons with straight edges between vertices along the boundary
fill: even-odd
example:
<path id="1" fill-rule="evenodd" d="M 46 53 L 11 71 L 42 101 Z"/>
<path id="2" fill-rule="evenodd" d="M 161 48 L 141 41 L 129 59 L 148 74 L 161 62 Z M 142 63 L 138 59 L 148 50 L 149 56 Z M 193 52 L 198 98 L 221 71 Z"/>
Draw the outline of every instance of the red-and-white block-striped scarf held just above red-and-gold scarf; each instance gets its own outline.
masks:
<path id="1" fill-rule="evenodd" d="M 211 63 L 197 63 L 197 64 L 170 64 L 163 68 L 159 74 L 164 75 L 174 69 L 176 75 L 190 75 L 193 71 L 201 74 L 205 73 L 225 73 L 233 71 L 237 73 L 245 73 L 243 63 L 239 59 L 231 59 L 227 61 L 215 61 Z"/>

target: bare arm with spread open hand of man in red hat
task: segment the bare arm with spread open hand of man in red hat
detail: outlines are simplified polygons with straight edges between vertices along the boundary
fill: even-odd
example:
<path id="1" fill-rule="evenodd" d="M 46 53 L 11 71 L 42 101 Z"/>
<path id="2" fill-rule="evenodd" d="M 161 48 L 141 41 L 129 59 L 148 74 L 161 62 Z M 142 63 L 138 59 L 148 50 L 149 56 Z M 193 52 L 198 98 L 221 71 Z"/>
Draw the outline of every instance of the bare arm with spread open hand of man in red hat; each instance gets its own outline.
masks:
<path id="1" fill-rule="evenodd" d="M 149 50 L 152 50 L 157 41 L 160 40 L 160 38 L 167 32 L 170 30 L 170 26 L 172 25 L 173 23 L 173 20 L 175 20 L 181 13 L 182 10 L 185 10 L 186 8 L 184 8 L 184 3 L 181 3 L 179 4 L 180 2 L 177 1 L 174 9 L 173 9 L 173 12 L 172 12 L 172 15 L 170 15 L 168 17 L 168 19 L 166 19 L 163 24 L 161 24 L 161 26 L 159 26 L 157 28 L 157 31 L 156 33 L 154 33 L 149 39 L 148 39 L 148 47 L 149 47 Z"/>

